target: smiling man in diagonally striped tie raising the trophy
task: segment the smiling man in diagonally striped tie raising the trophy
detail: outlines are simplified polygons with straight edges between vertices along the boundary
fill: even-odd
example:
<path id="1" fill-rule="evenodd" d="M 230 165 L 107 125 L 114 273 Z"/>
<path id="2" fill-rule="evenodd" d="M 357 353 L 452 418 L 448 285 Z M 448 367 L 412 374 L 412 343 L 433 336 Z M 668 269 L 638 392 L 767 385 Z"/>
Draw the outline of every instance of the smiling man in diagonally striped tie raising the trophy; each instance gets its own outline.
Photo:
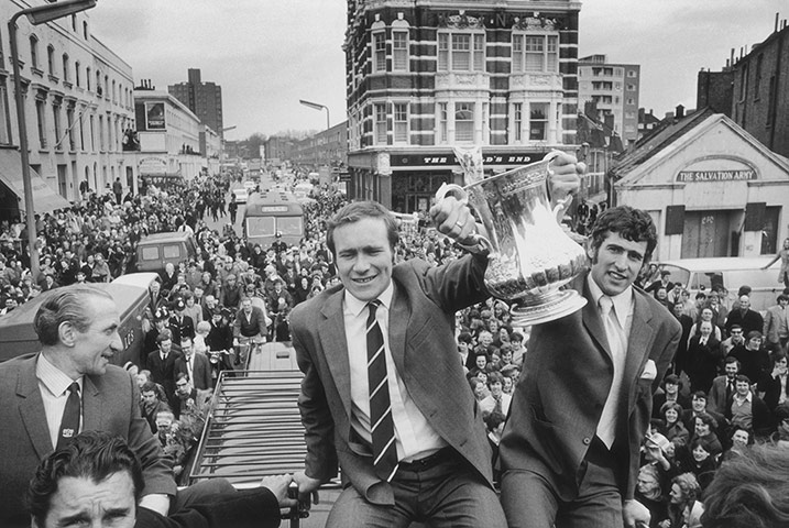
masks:
<path id="1" fill-rule="evenodd" d="M 578 188 L 583 167 L 574 158 L 559 155 L 551 168 L 555 199 Z M 430 216 L 441 233 L 478 242 L 463 200 L 439 200 Z M 317 498 L 339 465 L 346 486 L 328 527 L 503 527 L 491 449 L 453 333 L 454 312 L 490 296 L 489 257 L 395 265 L 397 238 L 381 205 L 342 208 L 327 233 L 342 284 L 292 314 L 305 373 L 299 498 Z"/>

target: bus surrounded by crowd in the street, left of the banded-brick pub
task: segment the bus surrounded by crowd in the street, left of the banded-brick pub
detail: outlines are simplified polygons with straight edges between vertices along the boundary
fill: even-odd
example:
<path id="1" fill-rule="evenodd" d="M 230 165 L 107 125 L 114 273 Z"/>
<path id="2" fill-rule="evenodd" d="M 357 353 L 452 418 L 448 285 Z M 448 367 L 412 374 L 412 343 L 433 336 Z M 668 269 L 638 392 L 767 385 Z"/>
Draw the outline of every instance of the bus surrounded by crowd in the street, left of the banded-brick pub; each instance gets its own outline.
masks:
<path id="1" fill-rule="evenodd" d="M 254 193 L 246 199 L 241 226 L 250 244 L 269 248 L 281 233 L 283 242 L 298 245 L 304 237 L 304 210 L 291 193 Z"/>

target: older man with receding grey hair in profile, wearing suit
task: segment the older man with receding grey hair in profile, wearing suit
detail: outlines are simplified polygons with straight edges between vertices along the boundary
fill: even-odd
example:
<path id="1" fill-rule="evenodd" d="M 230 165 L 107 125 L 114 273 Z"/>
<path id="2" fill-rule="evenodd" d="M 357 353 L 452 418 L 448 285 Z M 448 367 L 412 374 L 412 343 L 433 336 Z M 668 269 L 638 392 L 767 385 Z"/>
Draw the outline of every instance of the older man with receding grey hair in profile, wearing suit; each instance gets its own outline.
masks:
<path id="1" fill-rule="evenodd" d="M 59 288 L 33 324 L 41 353 L 0 364 L 0 526 L 30 526 L 23 495 L 35 468 L 79 430 L 127 440 L 143 466 L 141 505 L 166 515 L 176 493 L 172 466 L 140 414 L 136 382 L 109 365 L 123 349 L 112 298 L 91 286 Z"/>

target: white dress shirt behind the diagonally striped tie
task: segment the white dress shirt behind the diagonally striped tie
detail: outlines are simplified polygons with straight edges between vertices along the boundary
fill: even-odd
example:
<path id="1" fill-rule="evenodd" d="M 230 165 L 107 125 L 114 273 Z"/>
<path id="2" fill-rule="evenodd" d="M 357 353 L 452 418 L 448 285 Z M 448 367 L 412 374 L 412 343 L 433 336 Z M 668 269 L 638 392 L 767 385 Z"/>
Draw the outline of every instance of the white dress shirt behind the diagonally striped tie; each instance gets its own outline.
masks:
<path id="1" fill-rule="evenodd" d="M 390 349 L 388 314 L 394 296 L 394 285 L 379 296 L 381 306 L 375 317 L 384 337 L 386 375 L 388 378 L 390 403 L 394 420 L 397 458 L 413 461 L 427 457 L 447 446 L 447 442 L 428 424 L 408 394 L 402 376 L 395 367 Z M 368 383 L 366 322 L 370 311 L 368 302 L 359 300 L 346 290 L 342 305 L 348 342 L 348 360 L 351 370 L 351 427 L 372 446 L 370 427 L 370 391 Z"/>

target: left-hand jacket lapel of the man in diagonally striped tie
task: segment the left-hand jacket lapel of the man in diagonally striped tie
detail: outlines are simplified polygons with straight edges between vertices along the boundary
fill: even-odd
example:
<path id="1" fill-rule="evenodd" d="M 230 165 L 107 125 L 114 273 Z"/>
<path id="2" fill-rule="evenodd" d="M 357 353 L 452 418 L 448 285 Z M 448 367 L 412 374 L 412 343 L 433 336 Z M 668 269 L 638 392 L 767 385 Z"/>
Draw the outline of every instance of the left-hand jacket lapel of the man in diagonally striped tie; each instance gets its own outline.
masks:
<path id="1" fill-rule="evenodd" d="M 335 381 L 337 392 L 342 399 L 346 414 L 351 416 L 351 366 L 348 359 L 348 341 L 346 340 L 346 321 L 342 315 L 342 297 L 344 288 L 340 288 L 327 299 L 321 309 L 326 319 L 318 328 L 318 338 L 326 356 L 326 362 Z"/>

